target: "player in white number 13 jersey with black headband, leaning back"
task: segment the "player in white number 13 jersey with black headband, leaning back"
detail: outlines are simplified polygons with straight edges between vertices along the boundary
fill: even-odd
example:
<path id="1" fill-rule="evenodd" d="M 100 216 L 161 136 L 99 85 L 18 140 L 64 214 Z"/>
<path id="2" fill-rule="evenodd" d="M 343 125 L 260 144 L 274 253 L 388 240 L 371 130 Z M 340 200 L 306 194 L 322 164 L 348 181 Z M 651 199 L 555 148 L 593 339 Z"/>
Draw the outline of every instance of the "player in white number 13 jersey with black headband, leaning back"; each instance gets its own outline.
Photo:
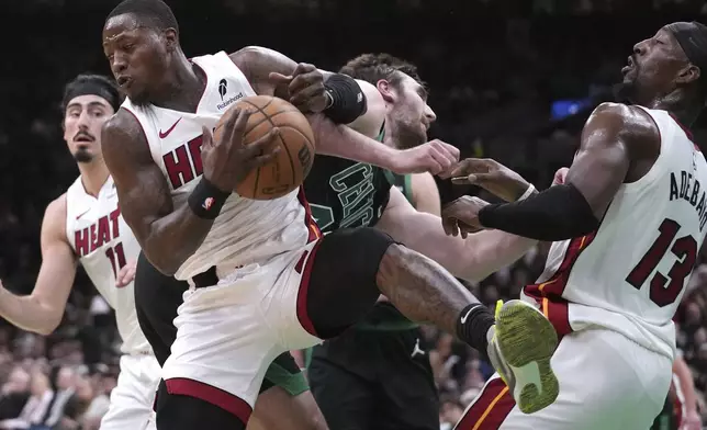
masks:
<path id="1" fill-rule="evenodd" d="M 545 273 L 521 298 L 563 336 L 552 358 L 554 404 L 523 415 L 494 376 L 460 430 L 648 429 L 663 407 L 672 318 L 707 230 L 707 162 L 681 125 L 705 105 L 707 27 L 662 27 L 633 47 L 622 72 L 633 104 L 594 111 L 564 185 L 509 204 L 463 197 L 442 211 L 450 230 L 554 241 Z M 454 173 L 483 180 L 476 163 Z"/>

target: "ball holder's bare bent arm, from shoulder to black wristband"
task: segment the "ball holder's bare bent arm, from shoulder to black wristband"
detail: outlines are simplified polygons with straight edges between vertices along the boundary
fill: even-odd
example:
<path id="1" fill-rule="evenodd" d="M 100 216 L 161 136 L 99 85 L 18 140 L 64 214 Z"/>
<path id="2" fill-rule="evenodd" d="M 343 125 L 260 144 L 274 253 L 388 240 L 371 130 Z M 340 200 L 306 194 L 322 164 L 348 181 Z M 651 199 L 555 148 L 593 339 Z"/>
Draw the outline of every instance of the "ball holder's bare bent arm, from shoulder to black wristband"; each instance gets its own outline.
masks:
<path id="1" fill-rule="evenodd" d="M 117 189 L 123 218 L 145 256 L 160 272 L 172 275 L 199 249 L 213 220 L 197 216 L 186 202 L 175 207 L 139 124 L 126 115 L 119 111 L 103 126 L 103 158 Z"/>

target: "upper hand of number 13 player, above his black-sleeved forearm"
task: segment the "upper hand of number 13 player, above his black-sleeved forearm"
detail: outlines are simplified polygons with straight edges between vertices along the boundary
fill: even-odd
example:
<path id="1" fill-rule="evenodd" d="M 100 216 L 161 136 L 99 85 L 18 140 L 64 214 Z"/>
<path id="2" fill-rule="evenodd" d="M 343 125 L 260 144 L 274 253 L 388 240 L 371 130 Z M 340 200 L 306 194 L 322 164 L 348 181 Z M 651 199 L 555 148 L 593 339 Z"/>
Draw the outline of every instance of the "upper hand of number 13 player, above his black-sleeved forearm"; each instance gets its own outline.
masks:
<path id="1" fill-rule="evenodd" d="M 467 158 L 451 171 L 451 181 L 459 185 L 479 185 L 506 202 L 515 202 L 530 183 L 515 171 L 491 158 Z"/>

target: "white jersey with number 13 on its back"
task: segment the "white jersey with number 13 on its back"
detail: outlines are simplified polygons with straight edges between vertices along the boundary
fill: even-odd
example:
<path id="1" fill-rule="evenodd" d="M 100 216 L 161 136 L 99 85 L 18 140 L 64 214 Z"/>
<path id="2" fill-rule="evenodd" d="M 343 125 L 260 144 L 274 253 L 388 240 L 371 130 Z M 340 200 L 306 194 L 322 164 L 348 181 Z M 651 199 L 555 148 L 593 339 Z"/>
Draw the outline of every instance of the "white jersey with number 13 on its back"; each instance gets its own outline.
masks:
<path id="1" fill-rule="evenodd" d="M 599 326 L 672 359 L 672 318 L 705 239 L 707 163 L 667 112 L 644 111 L 660 129 L 655 163 L 621 185 L 597 231 L 552 244 L 524 298 L 560 333 Z"/>

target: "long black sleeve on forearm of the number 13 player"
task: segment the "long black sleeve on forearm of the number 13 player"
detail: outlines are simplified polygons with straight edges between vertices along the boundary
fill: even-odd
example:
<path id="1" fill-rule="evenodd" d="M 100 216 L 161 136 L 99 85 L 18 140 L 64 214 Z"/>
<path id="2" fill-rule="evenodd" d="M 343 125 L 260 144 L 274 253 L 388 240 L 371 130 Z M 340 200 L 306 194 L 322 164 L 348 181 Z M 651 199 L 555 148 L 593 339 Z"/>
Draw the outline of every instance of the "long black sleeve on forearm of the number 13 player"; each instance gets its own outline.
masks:
<path id="1" fill-rule="evenodd" d="M 479 212 L 486 228 L 537 240 L 565 240 L 594 231 L 599 220 L 572 184 L 556 185 L 514 203 L 491 204 Z"/>

